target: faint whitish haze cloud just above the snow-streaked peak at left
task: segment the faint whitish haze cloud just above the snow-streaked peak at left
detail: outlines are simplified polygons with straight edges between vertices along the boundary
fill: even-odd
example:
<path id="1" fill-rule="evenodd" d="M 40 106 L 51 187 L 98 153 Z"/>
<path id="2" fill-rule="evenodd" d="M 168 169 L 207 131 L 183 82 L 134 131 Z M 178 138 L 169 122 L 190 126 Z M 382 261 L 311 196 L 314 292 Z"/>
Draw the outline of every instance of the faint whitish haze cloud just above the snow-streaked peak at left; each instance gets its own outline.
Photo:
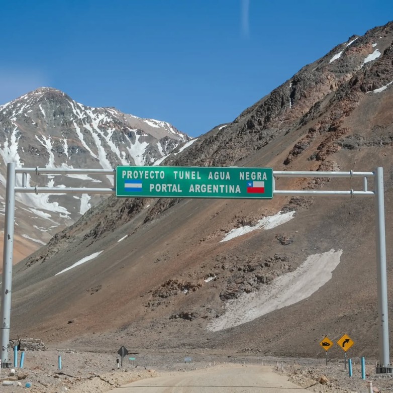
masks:
<path id="1" fill-rule="evenodd" d="M 37 70 L 0 68 L 0 105 L 49 84 L 49 79 Z"/>

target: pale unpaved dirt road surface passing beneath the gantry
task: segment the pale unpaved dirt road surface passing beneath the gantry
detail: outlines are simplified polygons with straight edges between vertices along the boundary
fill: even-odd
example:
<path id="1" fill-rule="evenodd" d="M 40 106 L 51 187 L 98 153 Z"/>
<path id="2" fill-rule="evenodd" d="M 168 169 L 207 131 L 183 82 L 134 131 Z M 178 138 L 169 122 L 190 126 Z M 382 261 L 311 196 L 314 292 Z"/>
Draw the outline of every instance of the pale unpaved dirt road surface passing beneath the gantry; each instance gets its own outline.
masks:
<path id="1" fill-rule="evenodd" d="M 118 387 L 115 393 L 306 393 L 269 366 L 220 365 L 209 369 L 171 372 Z"/>

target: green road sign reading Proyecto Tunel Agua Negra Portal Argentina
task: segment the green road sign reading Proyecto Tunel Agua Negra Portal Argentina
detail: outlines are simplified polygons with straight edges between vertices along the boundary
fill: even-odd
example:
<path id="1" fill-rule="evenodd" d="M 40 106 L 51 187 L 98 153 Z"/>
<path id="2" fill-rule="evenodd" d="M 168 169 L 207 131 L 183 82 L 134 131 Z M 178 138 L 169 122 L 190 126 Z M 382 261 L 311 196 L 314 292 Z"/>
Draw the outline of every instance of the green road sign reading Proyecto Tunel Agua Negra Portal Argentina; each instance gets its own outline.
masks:
<path id="1" fill-rule="evenodd" d="M 271 199 L 273 169 L 118 166 L 116 196 Z"/>

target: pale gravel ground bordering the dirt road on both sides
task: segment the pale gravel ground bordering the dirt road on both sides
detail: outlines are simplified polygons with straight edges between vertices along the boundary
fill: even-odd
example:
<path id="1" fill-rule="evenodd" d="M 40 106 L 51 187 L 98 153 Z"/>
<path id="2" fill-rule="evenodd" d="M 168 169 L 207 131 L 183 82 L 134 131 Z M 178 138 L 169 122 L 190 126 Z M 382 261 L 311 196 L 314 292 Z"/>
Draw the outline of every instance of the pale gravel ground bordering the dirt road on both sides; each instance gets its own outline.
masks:
<path id="1" fill-rule="evenodd" d="M 59 354 L 61 370 L 58 368 Z M 135 360 L 129 360 L 129 357 Z M 191 361 L 185 363 L 185 357 L 191 358 Z M 231 362 L 270 365 L 291 382 L 316 393 L 368 392 L 366 381 L 361 379 L 360 359 L 353 359 L 353 376 L 349 377 L 343 360 L 337 359 L 329 360 L 326 366 L 325 359 L 238 356 L 208 350 L 192 353 L 152 353 L 140 350 L 126 356 L 123 366 L 119 364 L 117 368 L 117 358 L 114 353 L 55 349 L 27 351 L 24 368 L 16 368 L 14 376 L 10 375 L 10 368 L 1 370 L 0 391 L 16 393 L 28 389 L 36 393 L 60 393 L 67 390 L 73 393 L 105 393 L 128 382 L 165 375 L 168 371 L 186 372 Z M 324 376 L 326 380 L 322 381 Z M 366 364 L 366 379 L 372 381 L 374 391 L 393 390 L 391 375 L 375 374 L 374 362 Z M 20 382 L 21 386 L 3 385 L 4 380 Z M 26 387 L 26 383 L 31 386 Z"/>

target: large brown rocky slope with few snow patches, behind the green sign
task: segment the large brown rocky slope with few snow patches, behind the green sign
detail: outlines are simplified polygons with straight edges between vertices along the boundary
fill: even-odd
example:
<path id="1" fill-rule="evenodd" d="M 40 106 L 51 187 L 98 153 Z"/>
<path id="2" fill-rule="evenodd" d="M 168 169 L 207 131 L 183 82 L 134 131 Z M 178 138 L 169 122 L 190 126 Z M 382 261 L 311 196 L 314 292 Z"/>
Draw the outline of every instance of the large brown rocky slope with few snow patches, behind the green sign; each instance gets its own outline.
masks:
<path id="1" fill-rule="evenodd" d="M 382 166 L 389 239 L 392 82 L 389 23 L 350 37 L 164 164 Z M 349 190 L 363 180 L 277 178 L 276 186 Z M 111 197 L 16 266 L 12 336 L 108 350 L 324 356 L 322 338 L 346 333 L 351 356 L 377 357 L 374 216 L 373 199 L 357 196 Z M 329 354 L 343 355 L 338 346 Z"/>

